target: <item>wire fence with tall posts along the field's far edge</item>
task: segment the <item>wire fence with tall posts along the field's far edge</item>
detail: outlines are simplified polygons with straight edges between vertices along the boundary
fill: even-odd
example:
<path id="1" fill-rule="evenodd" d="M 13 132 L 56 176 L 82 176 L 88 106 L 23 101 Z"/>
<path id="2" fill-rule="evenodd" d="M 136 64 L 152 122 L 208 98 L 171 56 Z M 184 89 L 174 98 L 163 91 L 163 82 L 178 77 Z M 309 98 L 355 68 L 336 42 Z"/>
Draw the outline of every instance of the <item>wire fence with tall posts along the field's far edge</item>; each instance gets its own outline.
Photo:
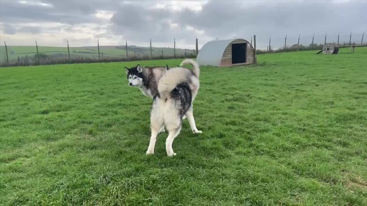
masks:
<path id="1" fill-rule="evenodd" d="M 356 43 L 355 41 L 351 41 L 352 33 L 350 33 L 349 35 L 349 42 L 343 42 L 339 44 L 339 36 L 340 33 L 338 34 L 337 40 L 333 40 L 334 44 L 359 44 L 359 42 Z M 323 44 L 314 43 L 314 37 L 315 34 L 313 34 L 310 44 L 299 44 L 299 40 L 301 38 L 301 34 L 299 34 L 297 44 L 287 45 L 286 35 L 284 38 L 284 47 L 274 49 L 272 47 L 270 36 L 269 45 L 266 47 L 266 49 L 257 48 L 257 54 L 320 50 L 322 49 L 323 45 L 328 42 L 327 34 L 325 34 Z M 362 34 L 360 44 L 363 44 L 363 38 L 364 32 Z M 251 41 L 249 42 L 252 44 L 252 36 Z M 4 46 L 0 46 L 0 67 L 96 62 L 125 62 L 149 59 L 195 58 L 199 52 L 197 38 L 195 39 L 195 45 L 196 49 L 176 48 L 175 39 L 173 42 L 173 48 L 152 47 L 151 39 L 149 47 L 128 46 L 127 40 L 125 45 L 119 46 L 100 46 L 99 40 L 97 40 L 97 46 L 91 47 L 69 47 L 69 41 L 67 41 L 66 47 L 40 47 L 37 45 L 37 41 L 35 42 L 35 46 L 7 46 L 6 42 L 4 42 Z M 3 58 L 1 58 L 1 56 L 3 56 Z"/>

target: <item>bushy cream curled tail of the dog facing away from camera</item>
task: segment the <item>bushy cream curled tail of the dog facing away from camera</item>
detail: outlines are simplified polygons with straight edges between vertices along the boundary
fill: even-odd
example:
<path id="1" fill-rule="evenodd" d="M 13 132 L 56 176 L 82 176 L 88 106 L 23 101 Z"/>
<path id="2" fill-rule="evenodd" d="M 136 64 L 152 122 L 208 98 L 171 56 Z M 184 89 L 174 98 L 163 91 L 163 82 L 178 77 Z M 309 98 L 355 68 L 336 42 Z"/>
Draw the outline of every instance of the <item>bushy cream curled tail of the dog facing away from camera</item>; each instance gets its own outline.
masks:
<path id="1" fill-rule="evenodd" d="M 158 82 L 158 92 L 161 99 L 169 99 L 171 91 L 177 85 L 190 81 L 192 72 L 183 67 L 174 67 L 167 70 Z"/>

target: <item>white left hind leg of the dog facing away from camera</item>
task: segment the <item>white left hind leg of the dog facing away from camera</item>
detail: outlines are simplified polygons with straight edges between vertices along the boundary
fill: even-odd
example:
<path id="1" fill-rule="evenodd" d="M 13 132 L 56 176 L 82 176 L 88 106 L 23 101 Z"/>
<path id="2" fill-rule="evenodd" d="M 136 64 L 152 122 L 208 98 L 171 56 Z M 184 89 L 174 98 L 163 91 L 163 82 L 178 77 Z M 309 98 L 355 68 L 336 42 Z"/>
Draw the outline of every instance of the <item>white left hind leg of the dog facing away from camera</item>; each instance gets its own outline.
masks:
<path id="1" fill-rule="evenodd" d="M 152 130 L 152 135 L 150 136 L 150 142 L 148 150 L 146 151 L 146 154 L 154 154 L 154 147 L 156 144 L 156 138 L 160 131 L 160 128 L 163 125 L 163 112 L 160 111 L 164 105 L 161 105 L 162 102 L 159 98 L 155 99 L 152 106 L 152 112 L 150 113 L 150 128 Z M 164 103 L 163 103 L 164 104 Z"/>

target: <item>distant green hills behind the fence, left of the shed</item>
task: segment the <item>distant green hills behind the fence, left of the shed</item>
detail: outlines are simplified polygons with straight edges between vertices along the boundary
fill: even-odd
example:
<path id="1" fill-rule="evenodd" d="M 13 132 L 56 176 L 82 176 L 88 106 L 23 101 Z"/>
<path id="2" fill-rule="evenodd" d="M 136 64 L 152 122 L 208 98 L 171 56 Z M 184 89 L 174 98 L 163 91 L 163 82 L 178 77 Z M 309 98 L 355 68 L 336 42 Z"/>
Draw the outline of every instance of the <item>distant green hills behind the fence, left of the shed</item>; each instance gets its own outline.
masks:
<path id="1" fill-rule="evenodd" d="M 37 54 L 36 46 L 7 46 L 8 49 L 8 58 L 11 62 L 12 60 L 17 60 L 19 58 L 32 58 L 35 54 Z M 173 56 L 173 48 L 161 48 L 161 47 L 152 47 L 152 55 L 153 56 L 161 56 L 162 51 L 164 56 Z M 38 47 L 39 53 L 44 53 L 48 56 L 65 58 L 65 55 L 68 55 L 67 47 Z M 70 56 L 72 58 L 95 58 L 98 59 L 98 47 L 70 47 Z M 124 45 L 120 46 L 99 46 L 100 55 L 105 57 L 113 57 L 113 56 L 126 56 L 126 49 Z M 186 52 L 193 53 L 193 50 L 186 50 Z M 177 55 L 183 55 L 185 53 L 185 49 L 176 49 Z M 4 61 L 5 55 L 5 46 L 0 46 L 0 62 Z M 137 46 L 128 46 L 128 56 L 133 55 L 148 55 L 150 56 L 150 48 L 149 47 L 137 47 Z"/>

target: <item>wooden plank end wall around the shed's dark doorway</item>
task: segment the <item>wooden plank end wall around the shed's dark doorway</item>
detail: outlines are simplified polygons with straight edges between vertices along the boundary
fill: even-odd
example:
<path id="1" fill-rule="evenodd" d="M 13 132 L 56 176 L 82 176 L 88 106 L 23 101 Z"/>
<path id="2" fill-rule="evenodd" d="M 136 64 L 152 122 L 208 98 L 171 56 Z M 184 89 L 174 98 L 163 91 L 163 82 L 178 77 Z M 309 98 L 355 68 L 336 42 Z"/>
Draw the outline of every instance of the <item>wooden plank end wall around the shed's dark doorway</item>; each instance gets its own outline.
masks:
<path id="1" fill-rule="evenodd" d="M 236 66 L 236 65 L 248 65 L 248 64 L 253 64 L 254 63 L 254 47 L 252 47 L 252 45 L 250 45 L 250 47 L 247 47 L 247 57 L 246 57 L 246 62 L 245 63 L 238 63 L 238 64 L 232 64 L 232 44 L 241 44 L 241 43 L 248 43 L 250 44 L 250 42 L 243 40 L 243 39 L 236 39 L 234 41 L 232 41 L 230 44 L 228 44 L 228 46 L 226 47 L 226 49 L 223 52 L 222 55 L 222 60 L 221 60 L 221 67 L 226 67 L 226 66 Z"/>

